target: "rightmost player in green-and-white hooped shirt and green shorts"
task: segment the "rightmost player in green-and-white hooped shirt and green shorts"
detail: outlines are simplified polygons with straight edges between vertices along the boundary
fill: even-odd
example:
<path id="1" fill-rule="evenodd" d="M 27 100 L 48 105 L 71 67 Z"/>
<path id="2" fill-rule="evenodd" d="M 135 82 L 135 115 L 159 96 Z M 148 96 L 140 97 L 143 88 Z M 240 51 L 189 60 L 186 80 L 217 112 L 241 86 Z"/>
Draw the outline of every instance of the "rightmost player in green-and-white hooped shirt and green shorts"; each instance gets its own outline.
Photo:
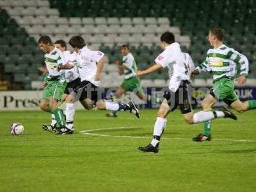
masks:
<path id="1" fill-rule="evenodd" d="M 209 43 L 213 49 L 207 51 L 206 60 L 196 67 L 194 74 L 202 71 L 211 72 L 213 75 L 213 87 L 209 95 L 202 101 L 205 111 L 210 111 L 216 100 L 222 100 L 239 113 L 250 109 L 256 109 L 256 100 L 241 102 L 234 92 L 234 79 L 243 84 L 248 75 L 249 63 L 243 54 L 223 44 L 224 33 L 221 28 L 213 27 L 209 30 Z M 240 70 L 237 71 L 237 65 Z M 204 122 L 203 133 L 193 138 L 193 141 L 211 140 L 211 120 Z"/>

